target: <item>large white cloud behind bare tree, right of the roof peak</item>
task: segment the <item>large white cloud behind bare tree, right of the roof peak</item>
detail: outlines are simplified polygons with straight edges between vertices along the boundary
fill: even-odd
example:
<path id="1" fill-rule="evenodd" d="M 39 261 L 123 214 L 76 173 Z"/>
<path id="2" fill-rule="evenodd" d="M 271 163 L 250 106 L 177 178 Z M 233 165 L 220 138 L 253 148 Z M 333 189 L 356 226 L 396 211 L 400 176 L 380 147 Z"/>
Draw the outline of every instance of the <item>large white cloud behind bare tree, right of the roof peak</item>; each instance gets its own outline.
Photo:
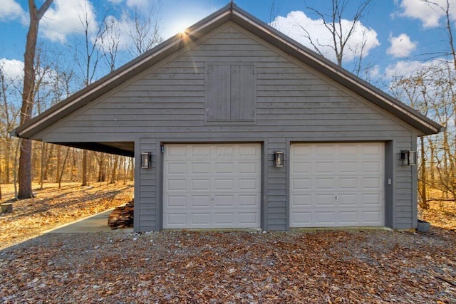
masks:
<path id="1" fill-rule="evenodd" d="M 314 47 L 306 38 L 306 31 L 311 35 L 314 44 L 318 45 L 321 53 L 331 61 L 336 61 L 336 54 L 331 49 L 333 46 L 333 38 L 328 29 L 323 25 L 322 19 L 311 19 L 302 11 L 291 11 L 286 17 L 278 16 L 274 21 L 271 22 L 275 28 L 287 36 L 294 38 L 299 43 L 304 44 L 314 50 Z M 353 21 L 343 19 L 341 21 L 342 33 L 345 35 L 349 28 L 353 26 Z M 304 28 L 306 31 L 304 31 Z M 338 28 L 338 24 L 336 24 Z M 357 56 L 357 51 L 363 46 L 363 56 L 367 56 L 369 51 L 373 48 L 380 46 L 380 42 L 377 39 L 377 33 L 372 28 L 366 28 L 362 23 L 358 22 L 355 24 L 355 31 L 351 37 L 348 38 L 348 43 L 344 49 L 344 61 L 353 61 Z"/>

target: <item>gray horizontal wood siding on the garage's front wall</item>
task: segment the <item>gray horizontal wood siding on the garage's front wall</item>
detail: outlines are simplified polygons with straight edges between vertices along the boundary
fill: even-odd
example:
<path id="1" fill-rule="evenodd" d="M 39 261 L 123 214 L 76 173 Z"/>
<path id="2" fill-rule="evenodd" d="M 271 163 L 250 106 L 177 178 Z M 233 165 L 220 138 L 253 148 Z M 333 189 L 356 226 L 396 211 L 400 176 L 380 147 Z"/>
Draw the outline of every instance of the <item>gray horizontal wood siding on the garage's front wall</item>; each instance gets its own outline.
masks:
<path id="1" fill-rule="evenodd" d="M 256 120 L 211 124 L 205 120 L 207 63 L 246 63 L 257 69 Z M 290 142 L 392 142 L 386 170 L 395 186 L 385 197 L 393 228 L 413 226 L 413 168 L 398 165 L 400 150 L 415 146 L 413 128 L 363 100 L 234 23 L 226 23 L 160 65 L 94 100 L 41 132 L 46 142 L 129 141 L 135 154 L 152 151 L 152 169 L 137 169 L 135 229 L 160 229 L 160 142 L 264 142 L 267 170 L 264 229 L 288 229 L 287 164 Z M 389 146 L 388 146 L 389 147 Z M 284 151 L 285 166 L 272 167 Z M 138 161 L 137 161 L 138 162 Z M 137 168 L 139 165 L 137 163 Z"/>

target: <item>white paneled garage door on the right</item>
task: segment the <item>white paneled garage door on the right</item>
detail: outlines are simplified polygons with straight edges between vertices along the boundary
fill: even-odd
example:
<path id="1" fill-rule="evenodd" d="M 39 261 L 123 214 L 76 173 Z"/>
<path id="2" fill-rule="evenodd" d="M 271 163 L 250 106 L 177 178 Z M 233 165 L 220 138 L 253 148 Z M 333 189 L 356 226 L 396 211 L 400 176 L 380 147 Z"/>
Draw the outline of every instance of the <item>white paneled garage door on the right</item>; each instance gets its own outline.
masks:
<path id="1" fill-rule="evenodd" d="M 384 226 L 383 143 L 293 144 L 290 227 Z"/>

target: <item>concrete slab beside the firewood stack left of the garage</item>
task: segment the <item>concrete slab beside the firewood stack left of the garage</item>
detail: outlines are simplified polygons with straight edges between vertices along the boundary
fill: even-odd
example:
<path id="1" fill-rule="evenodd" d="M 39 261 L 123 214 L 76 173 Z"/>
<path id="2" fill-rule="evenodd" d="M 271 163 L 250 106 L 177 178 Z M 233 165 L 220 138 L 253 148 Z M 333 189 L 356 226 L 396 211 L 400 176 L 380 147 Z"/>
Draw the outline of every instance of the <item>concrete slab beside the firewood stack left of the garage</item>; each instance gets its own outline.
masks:
<path id="1" fill-rule="evenodd" d="M 95 232 L 133 232 L 133 228 L 110 229 L 108 226 L 108 216 L 113 209 L 103 211 L 85 219 L 78 219 L 72 223 L 58 226 L 48 230 L 47 234 L 78 234 L 78 233 L 95 233 Z"/>

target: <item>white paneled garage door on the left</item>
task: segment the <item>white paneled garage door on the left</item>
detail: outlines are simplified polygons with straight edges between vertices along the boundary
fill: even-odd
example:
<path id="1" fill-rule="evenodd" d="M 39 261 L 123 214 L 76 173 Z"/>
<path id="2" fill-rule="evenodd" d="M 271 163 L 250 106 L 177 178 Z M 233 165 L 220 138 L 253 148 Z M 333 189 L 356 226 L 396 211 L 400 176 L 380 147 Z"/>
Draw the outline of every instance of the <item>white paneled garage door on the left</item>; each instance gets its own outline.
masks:
<path id="1" fill-rule="evenodd" d="M 260 144 L 165 145 L 163 228 L 259 228 Z"/>

